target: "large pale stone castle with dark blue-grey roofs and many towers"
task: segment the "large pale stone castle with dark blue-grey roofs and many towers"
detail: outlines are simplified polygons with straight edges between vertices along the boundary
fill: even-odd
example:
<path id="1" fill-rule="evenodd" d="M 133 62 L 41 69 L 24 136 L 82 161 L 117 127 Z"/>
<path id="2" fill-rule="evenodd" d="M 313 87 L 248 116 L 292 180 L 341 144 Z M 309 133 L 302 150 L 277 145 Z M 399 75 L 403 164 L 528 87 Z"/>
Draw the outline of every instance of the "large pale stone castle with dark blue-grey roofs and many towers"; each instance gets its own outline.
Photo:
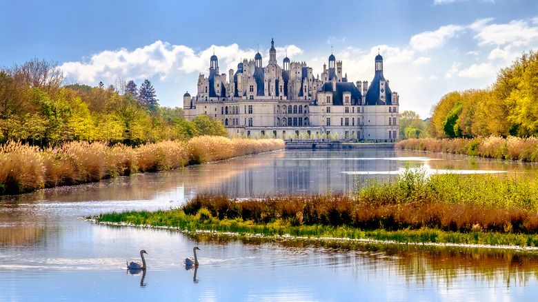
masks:
<path id="1" fill-rule="evenodd" d="M 348 81 L 342 62 L 330 54 L 321 77 L 305 62 L 283 59 L 278 65 L 275 41 L 263 67 L 261 54 L 243 59 L 228 77 L 219 73 L 215 54 L 209 76 L 200 74 L 198 93 L 183 95 L 187 120 L 199 114 L 221 119 L 230 137 L 396 141 L 399 96 L 383 77 L 383 57 L 375 57 L 375 75 L 368 81 Z"/>

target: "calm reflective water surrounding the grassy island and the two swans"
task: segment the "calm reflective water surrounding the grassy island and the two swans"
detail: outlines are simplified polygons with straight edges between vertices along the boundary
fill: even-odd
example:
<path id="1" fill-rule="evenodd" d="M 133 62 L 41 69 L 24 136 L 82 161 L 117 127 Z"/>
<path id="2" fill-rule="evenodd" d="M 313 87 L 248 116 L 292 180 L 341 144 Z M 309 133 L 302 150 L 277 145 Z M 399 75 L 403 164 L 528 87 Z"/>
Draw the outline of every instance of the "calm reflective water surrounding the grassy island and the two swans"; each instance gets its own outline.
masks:
<path id="1" fill-rule="evenodd" d="M 197 192 L 354 190 L 406 165 L 524 174 L 537 165 L 399 150 L 279 151 L 0 199 L 0 301 L 534 301 L 538 254 L 477 248 L 192 239 L 83 217 L 177 207 Z M 200 266 L 182 259 L 198 245 Z M 126 261 L 146 249 L 148 270 Z"/>

